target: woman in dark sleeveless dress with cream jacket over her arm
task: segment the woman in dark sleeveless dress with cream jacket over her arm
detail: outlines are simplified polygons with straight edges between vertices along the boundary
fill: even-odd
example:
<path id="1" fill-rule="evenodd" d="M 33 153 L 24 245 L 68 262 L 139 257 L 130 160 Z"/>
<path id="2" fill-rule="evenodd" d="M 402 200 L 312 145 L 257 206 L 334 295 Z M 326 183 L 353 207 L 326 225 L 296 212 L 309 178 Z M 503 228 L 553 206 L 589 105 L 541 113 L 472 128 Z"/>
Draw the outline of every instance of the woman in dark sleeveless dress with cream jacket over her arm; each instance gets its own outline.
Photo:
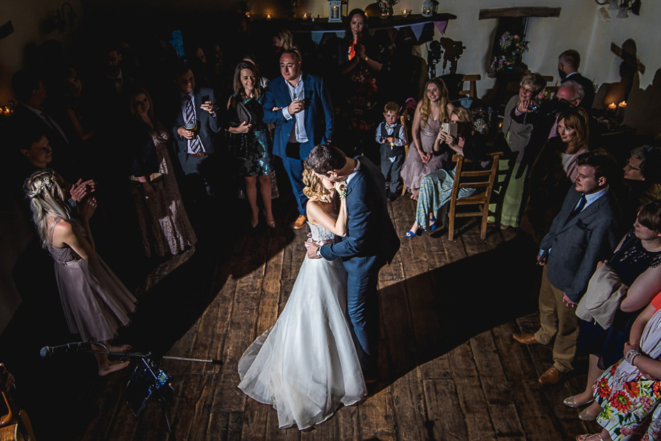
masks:
<path id="1" fill-rule="evenodd" d="M 620 241 L 613 256 L 600 262 L 597 268 L 604 263 L 612 270 L 612 277 L 626 285 L 626 291 L 612 326 L 604 329 L 599 323 L 581 321 L 578 351 L 589 353 L 589 367 L 585 390 L 564 400 L 566 406 L 573 408 L 593 401 L 592 387 L 596 379 L 619 360 L 636 316 L 661 291 L 660 200 L 641 207 L 632 230 Z M 594 420 L 599 411 L 598 404 L 594 403 L 581 412 L 580 419 Z"/>

